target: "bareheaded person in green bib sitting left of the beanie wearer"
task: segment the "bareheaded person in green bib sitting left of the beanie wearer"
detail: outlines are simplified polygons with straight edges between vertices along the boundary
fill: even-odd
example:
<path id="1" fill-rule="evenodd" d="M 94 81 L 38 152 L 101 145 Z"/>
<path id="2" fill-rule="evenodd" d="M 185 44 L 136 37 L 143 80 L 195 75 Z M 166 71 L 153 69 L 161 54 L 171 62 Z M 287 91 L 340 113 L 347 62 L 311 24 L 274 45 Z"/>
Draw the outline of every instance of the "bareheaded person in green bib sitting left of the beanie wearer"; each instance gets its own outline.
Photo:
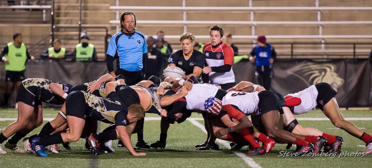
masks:
<path id="1" fill-rule="evenodd" d="M 65 47 L 61 47 L 61 40 L 55 39 L 53 42 L 53 47 L 49 47 L 48 50 L 45 50 L 44 53 L 40 55 L 42 58 L 51 58 L 51 59 L 61 59 L 65 55 L 69 55 L 69 51 Z"/>

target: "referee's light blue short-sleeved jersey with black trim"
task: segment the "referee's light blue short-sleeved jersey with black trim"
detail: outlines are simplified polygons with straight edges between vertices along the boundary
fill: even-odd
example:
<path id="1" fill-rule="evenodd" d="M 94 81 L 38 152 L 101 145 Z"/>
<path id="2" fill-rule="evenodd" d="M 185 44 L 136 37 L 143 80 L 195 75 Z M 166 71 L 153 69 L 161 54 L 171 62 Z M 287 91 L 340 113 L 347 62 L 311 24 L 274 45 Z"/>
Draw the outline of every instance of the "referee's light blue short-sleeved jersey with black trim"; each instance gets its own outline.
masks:
<path id="1" fill-rule="evenodd" d="M 147 44 L 143 33 L 120 31 L 111 37 L 106 54 L 116 58 L 117 68 L 133 72 L 142 70 L 144 53 L 147 53 Z"/>

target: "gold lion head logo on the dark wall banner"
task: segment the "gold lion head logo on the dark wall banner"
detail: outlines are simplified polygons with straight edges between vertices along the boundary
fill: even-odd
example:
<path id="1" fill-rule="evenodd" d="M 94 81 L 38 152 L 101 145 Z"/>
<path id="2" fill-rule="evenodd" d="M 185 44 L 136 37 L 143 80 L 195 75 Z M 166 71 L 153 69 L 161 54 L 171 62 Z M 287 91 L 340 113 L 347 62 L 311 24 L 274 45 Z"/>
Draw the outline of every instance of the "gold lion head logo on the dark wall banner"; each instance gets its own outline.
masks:
<path id="1" fill-rule="evenodd" d="M 339 89 L 345 81 L 339 77 L 335 70 L 336 65 L 332 63 L 305 63 L 289 69 L 287 73 L 300 78 L 308 86 L 320 82 L 329 83 L 337 92 L 337 89 Z"/>

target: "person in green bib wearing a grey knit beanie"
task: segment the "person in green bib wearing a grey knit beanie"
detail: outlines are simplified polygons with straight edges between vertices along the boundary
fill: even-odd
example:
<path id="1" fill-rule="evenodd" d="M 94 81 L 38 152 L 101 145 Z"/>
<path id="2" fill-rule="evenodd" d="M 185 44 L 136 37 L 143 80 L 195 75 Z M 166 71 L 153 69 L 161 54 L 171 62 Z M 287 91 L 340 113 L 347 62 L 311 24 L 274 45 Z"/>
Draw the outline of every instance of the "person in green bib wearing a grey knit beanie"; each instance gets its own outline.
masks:
<path id="1" fill-rule="evenodd" d="M 74 50 L 74 59 L 77 61 L 97 61 L 97 52 L 93 44 L 88 43 L 89 36 L 84 30 L 80 35 L 80 43 L 76 45 Z"/>

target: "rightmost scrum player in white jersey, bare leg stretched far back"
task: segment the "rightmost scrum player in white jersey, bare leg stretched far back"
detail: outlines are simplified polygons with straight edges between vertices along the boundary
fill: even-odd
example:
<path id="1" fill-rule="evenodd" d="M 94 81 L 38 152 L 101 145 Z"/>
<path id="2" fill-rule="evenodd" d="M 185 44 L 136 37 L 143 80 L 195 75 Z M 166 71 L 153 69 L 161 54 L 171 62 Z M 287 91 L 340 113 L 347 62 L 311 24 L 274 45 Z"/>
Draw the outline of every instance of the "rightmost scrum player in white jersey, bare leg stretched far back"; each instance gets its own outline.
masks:
<path id="1" fill-rule="evenodd" d="M 343 118 L 335 98 L 336 94 L 337 92 L 328 83 L 321 82 L 311 85 L 309 88 L 300 92 L 289 94 L 285 99 L 289 99 L 292 96 L 298 96 L 301 98 L 301 104 L 294 106 L 292 110 L 295 115 L 306 113 L 316 106 L 319 107 L 334 126 L 345 130 L 350 135 L 353 135 L 366 143 L 367 149 L 364 153 L 372 153 L 372 136 L 363 132 L 353 123 L 346 121 Z M 343 139 L 339 138 L 339 141 L 339 145 L 341 145 Z M 332 147 L 335 147 L 332 148 L 332 151 L 336 150 L 336 147 L 338 149 L 337 145 L 332 145 Z"/>

